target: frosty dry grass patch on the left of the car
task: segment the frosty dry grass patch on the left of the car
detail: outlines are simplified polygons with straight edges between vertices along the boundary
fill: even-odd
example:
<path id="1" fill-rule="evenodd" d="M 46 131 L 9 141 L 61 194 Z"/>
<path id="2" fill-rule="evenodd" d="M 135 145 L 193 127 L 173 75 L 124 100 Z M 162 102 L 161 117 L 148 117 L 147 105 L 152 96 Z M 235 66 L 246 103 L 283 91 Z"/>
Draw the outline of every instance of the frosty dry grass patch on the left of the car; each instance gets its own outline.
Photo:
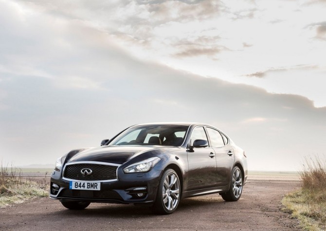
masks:
<path id="1" fill-rule="evenodd" d="M 0 163 L 0 208 L 36 197 L 47 197 L 48 185 L 23 179 L 21 169 Z"/>

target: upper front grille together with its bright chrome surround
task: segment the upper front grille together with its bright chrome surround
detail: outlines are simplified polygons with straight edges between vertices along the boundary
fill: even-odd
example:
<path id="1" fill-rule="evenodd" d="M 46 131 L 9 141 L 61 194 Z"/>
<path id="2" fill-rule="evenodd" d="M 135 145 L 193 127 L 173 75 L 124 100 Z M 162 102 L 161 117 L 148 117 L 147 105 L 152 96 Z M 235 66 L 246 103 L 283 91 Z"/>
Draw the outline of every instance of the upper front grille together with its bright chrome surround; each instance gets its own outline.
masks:
<path id="1" fill-rule="evenodd" d="M 97 182 L 112 182 L 118 181 L 118 168 L 120 165 L 112 164 L 112 163 L 105 163 L 105 162 L 96 162 L 96 161 L 80 161 L 80 162 L 72 162 L 67 163 L 62 170 L 62 179 L 66 181 L 97 181 Z M 75 168 L 73 171 L 75 172 L 75 177 L 72 177 L 71 174 L 66 174 L 67 168 Z M 83 168 L 99 168 L 100 172 L 96 173 L 96 170 L 93 170 L 94 174 L 90 176 L 83 177 L 80 173 L 80 170 Z M 106 170 L 108 170 L 110 175 L 106 176 L 103 174 L 107 174 Z M 102 174 L 101 174 L 102 173 Z M 108 179 L 109 178 L 109 179 Z"/>

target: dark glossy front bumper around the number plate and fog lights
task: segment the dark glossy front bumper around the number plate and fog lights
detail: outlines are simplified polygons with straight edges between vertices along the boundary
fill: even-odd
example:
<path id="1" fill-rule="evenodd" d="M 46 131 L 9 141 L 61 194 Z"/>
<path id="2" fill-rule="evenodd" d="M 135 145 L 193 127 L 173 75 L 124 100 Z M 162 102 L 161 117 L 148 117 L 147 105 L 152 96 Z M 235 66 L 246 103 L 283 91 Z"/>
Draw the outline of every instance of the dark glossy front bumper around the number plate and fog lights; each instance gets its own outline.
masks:
<path id="1" fill-rule="evenodd" d="M 50 198 L 104 203 L 151 203 L 155 201 L 161 174 L 162 171 L 155 168 L 146 173 L 124 173 L 118 168 L 117 181 L 102 181 L 101 190 L 92 191 L 69 189 L 70 181 L 62 179 L 61 171 L 53 171 Z"/>

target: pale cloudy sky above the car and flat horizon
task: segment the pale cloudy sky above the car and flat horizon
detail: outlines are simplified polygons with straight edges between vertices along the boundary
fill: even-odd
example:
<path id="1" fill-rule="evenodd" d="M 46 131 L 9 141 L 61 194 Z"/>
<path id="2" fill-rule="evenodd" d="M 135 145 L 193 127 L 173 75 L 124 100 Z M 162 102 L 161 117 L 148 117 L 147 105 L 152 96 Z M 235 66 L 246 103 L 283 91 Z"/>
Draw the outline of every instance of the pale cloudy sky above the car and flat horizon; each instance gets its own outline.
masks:
<path id="1" fill-rule="evenodd" d="M 325 0 L 0 0 L 0 161 L 216 126 L 249 170 L 326 154 Z"/>

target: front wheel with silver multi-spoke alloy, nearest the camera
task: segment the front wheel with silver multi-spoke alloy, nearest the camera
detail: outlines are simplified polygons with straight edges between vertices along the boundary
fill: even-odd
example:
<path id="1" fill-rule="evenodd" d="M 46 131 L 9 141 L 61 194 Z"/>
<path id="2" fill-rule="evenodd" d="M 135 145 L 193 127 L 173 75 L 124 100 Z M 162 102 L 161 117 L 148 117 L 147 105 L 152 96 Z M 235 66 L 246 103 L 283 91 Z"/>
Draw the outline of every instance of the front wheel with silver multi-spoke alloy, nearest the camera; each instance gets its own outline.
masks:
<path id="1" fill-rule="evenodd" d="M 181 191 L 178 174 L 173 169 L 166 169 L 157 190 L 152 209 L 156 214 L 172 214 L 178 207 Z"/>

